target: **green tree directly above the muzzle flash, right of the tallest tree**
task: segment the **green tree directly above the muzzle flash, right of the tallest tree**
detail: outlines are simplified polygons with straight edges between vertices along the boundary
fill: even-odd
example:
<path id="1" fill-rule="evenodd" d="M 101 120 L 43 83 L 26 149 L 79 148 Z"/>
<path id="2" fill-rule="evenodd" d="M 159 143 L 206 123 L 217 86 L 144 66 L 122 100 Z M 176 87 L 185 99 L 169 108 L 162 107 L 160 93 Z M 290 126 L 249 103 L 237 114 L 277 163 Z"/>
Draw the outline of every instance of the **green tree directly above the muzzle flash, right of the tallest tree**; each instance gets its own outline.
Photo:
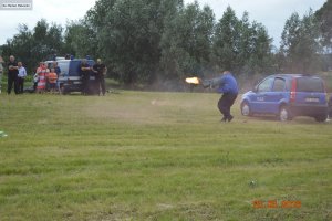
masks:
<path id="1" fill-rule="evenodd" d="M 160 41 L 162 70 L 166 78 L 203 75 L 210 63 L 215 15 L 209 7 L 198 3 L 169 14 Z"/>

